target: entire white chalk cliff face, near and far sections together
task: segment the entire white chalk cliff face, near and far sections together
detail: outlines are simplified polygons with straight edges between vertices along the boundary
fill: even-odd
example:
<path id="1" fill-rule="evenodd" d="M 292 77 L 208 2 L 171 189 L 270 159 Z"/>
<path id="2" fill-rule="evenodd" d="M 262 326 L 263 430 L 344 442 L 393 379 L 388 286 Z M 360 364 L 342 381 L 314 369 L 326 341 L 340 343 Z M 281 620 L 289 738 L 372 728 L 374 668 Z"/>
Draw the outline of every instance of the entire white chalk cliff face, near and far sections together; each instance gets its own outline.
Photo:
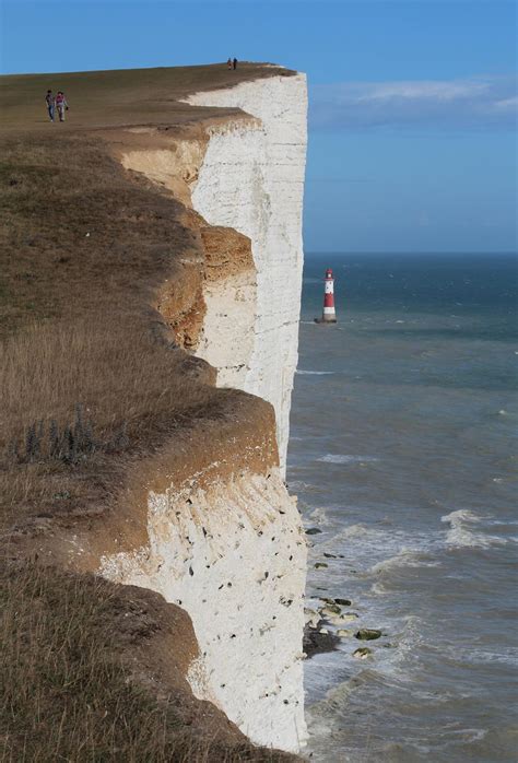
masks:
<path id="1" fill-rule="evenodd" d="M 196 695 L 252 741 L 295 751 L 306 737 L 306 544 L 283 477 L 302 285 L 305 78 L 275 75 L 189 101 L 251 118 L 214 120 L 202 141 L 132 150 L 122 163 L 202 216 L 204 304 L 190 349 L 216 368 L 219 386 L 262 398 L 275 416 L 257 401 L 270 411 L 267 435 L 251 426 L 245 437 L 236 414 L 219 455 L 150 490 L 149 543 L 105 554 L 101 571 L 185 608 L 200 648 L 189 671 Z M 273 441 L 268 458 L 264 436 Z"/>

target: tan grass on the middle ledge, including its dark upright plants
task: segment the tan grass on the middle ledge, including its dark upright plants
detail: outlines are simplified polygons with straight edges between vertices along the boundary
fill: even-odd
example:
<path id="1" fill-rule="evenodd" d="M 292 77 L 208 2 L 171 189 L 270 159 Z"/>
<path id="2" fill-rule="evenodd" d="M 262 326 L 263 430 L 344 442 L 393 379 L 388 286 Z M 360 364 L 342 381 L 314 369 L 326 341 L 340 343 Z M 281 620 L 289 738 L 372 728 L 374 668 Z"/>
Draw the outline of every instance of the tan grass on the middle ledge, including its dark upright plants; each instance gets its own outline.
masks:
<path id="1" fill-rule="evenodd" d="M 99 512 L 127 465 L 217 418 L 228 395 L 186 373 L 184 353 L 123 326 L 54 322 L 0 345 L 0 510 Z"/>

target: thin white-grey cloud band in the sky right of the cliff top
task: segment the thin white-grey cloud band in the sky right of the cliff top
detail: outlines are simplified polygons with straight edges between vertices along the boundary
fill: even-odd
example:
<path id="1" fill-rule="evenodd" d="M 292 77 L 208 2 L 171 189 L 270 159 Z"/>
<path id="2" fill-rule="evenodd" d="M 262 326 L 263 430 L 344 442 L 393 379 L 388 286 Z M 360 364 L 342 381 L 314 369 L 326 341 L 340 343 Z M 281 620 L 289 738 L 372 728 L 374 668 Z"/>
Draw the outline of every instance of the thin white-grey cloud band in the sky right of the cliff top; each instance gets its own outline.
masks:
<path id="1" fill-rule="evenodd" d="M 314 85 L 309 114 L 316 128 L 515 129 L 517 82 L 476 77 Z"/>

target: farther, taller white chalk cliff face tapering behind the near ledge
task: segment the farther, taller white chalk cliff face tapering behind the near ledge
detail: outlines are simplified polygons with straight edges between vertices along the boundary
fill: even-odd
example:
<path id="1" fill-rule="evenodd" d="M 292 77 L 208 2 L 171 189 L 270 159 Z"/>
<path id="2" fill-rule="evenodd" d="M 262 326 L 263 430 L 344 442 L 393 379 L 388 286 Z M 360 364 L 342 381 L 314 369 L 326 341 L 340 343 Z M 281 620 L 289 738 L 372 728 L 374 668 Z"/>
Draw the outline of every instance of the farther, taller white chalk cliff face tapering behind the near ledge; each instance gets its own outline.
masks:
<path id="1" fill-rule="evenodd" d="M 252 284 L 220 282 L 205 292 L 207 319 L 198 353 L 220 368 L 219 384 L 237 386 L 275 409 L 281 471 L 297 365 L 302 283 L 302 207 L 306 160 L 306 78 L 272 77 L 197 93 L 189 103 L 235 106 L 257 117 L 210 130 L 192 206 L 213 225 L 251 239 Z M 251 314 L 244 316 L 243 305 Z M 236 320 L 237 319 L 237 320 Z M 233 327 L 247 326 L 236 347 Z"/>

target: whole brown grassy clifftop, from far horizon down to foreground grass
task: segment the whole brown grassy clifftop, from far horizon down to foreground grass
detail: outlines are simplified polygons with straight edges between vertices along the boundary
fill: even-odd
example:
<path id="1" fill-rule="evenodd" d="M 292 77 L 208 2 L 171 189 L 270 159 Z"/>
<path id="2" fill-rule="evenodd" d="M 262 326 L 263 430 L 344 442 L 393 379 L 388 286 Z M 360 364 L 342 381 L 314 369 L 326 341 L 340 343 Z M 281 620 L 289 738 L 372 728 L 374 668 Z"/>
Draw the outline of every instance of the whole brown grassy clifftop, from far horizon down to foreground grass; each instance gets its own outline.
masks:
<path id="1" fill-rule="evenodd" d="M 2 760 L 292 760 L 195 700 L 185 612 L 81 574 L 70 555 L 93 527 L 145 536 L 143 507 L 128 514 L 136 474 L 210 451 L 237 425 L 272 427 L 267 403 L 214 388 L 176 341 L 202 309 L 203 221 L 125 172 L 105 137 L 221 116 L 178 98 L 274 73 L 290 74 L 217 64 L 0 80 Z M 67 93 L 64 125 L 46 119 L 47 87 Z"/>

